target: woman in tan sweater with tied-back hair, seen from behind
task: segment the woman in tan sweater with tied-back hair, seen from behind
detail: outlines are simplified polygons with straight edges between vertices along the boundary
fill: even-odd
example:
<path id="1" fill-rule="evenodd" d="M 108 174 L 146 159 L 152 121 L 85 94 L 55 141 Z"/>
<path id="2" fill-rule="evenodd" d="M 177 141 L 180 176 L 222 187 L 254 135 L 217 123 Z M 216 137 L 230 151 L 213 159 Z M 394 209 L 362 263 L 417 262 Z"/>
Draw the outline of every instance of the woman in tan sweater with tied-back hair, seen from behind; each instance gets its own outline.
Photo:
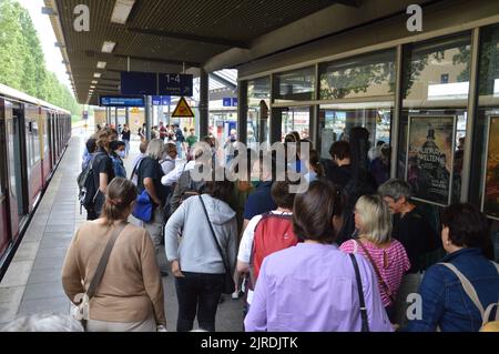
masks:
<path id="1" fill-rule="evenodd" d="M 75 305 L 82 294 L 90 297 L 89 332 L 155 332 L 166 326 L 154 245 L 147 231 L 126 222 L 135 200 L 135 185 L 114 179 L 105 190 L 101 219 L 78 230 L 65 255 L 62 286 Z M 102 260 L 108 260 L 103 266 Z M 100 280 L 98 270 L 103 270 Z"/>

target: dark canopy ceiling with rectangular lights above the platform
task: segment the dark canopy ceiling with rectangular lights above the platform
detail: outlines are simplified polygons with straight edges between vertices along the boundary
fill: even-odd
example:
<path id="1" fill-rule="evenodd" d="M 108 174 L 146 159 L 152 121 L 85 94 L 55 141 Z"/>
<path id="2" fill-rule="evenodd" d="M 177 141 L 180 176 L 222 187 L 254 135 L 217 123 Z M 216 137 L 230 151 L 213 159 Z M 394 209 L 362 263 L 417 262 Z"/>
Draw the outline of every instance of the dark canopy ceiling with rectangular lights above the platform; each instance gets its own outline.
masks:
<path id="1" fill-rule="evenodd" d="M 371 1 L 380 0 L 44 0 L 43 12 L 50 16 L 78 101 L 98 104 L 100 94 L 120 94 L 120 73 L 129 69 L 194 77 L 204 69 L 211 89 L 235 90 L 236 71 L 222 69 L 244 62 L 225 60 L 217 68 L 207 63 L 227 54 L 251 61 L 278 52 L 279 45 L 320 36 L 319 30 L 301 27 L 317 23 L 310 17 L 332 9 L 338 16 L 348 11 L 368 21 L 360 10 Z M 89 31 L 78 27 L 84 23 L 84 8 Z M 393 10 L 400 9 L 398 4 Z M 293 36 L 293 30 L 302 34 Z M 284 40 L 267 40 L 273 33 Z"/>

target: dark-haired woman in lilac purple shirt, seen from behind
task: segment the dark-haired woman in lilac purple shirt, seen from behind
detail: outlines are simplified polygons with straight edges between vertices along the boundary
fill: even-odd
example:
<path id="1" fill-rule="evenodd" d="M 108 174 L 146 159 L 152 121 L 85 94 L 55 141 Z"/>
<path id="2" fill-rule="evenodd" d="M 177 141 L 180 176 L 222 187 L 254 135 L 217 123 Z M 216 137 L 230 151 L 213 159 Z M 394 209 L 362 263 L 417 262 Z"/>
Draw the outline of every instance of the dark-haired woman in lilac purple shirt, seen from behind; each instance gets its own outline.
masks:
<path id="1" fill-rule="evenodd" d="M 339 193 L 312 182 L 295 198 L 293 226 L 305 242 L 265 257 L 244 321 L 247 332 L 358 332 L 360 301 L 355 269 L 335 241 L 342 226 Z M 393 331 L 368 262 L 355 255 L 369 331 Z"/>

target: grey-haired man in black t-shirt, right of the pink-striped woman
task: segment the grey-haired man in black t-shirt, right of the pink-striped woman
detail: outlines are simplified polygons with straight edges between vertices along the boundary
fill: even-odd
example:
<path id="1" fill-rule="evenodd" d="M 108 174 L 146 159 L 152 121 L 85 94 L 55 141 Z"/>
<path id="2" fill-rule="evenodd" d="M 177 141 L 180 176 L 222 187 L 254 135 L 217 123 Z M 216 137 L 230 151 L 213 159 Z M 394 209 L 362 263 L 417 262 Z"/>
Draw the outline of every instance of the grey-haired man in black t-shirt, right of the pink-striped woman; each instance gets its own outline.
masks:
<path id="1" fill-rule="evenodd" d="M 401 180 L 389 180 L 381 184 L 378 193 L 394 214 L 393 237 L 406 249 L 410 261 L 409 273 L 422 271 L 421 256 L 438 247 L 438 236 L 429 222 L 417 211 L 410 185 Z"/>

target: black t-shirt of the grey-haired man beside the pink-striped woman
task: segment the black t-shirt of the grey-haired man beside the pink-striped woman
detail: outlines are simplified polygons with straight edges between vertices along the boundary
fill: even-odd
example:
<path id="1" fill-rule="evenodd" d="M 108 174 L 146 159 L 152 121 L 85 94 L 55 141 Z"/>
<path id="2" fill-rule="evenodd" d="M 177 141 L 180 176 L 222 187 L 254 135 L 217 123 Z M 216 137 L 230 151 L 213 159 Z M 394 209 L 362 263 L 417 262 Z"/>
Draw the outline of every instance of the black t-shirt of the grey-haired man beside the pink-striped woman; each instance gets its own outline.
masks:
<path id="1" fill-rule="evenodd" d="M 421 256 L 438 249 L 438 235 L 429 222 L 418 213 L 417 209 L 394 216 L 393 237 L 406 249 L 410 261 L 409 273 L 421 270 Z"/>

